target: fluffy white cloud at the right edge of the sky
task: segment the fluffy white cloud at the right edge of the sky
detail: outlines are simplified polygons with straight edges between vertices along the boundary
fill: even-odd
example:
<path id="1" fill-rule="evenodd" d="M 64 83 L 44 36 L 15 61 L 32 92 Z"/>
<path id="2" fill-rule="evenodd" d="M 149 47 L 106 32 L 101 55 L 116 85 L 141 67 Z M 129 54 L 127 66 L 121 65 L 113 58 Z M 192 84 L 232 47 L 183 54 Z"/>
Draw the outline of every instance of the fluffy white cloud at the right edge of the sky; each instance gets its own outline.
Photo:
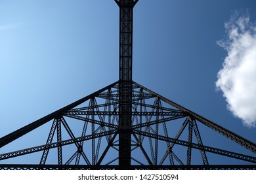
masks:
<path id="1" fill-rule="evenodd" d="M 232 17 L 225 24 L 228 38 L 218 41 L 227 52 L 217 75 L 217 89 L 227 107 L 244 125 L 256 127 L 256 24 L 249 16 Z"/>

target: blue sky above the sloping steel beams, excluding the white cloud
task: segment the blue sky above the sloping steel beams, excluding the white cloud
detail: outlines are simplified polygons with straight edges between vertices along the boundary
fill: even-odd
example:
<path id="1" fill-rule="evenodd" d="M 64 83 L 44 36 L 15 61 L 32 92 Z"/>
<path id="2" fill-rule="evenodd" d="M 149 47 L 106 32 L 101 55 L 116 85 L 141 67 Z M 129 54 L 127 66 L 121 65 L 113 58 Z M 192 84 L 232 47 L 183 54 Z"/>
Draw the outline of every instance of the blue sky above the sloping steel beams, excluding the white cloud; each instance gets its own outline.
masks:
<path id="1" fill-rule="evenodd" d="M 224 24 L 244 14 L 255 24 L 255 7 L 253 0 L 140 0 L 133 80 L 255 142 L 256 128 L 227 109 L 215 85 L 228 56 L 218 44 L 230 41 Z M 1 0 L 0 137 L 118 80 L 118 44 L 114 0 Z"/>

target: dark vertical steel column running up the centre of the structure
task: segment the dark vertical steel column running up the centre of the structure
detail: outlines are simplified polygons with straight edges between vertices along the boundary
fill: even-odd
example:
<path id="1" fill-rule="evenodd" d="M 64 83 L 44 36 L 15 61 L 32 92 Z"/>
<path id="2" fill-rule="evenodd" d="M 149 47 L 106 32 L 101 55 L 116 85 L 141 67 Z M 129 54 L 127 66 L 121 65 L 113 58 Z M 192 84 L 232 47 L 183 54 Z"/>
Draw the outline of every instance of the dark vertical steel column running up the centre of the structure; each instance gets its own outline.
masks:
<path id="1" fill-rule="evenodd" d="M 119 6 L 119 165 L 131 165 L 133 0 Z"/>

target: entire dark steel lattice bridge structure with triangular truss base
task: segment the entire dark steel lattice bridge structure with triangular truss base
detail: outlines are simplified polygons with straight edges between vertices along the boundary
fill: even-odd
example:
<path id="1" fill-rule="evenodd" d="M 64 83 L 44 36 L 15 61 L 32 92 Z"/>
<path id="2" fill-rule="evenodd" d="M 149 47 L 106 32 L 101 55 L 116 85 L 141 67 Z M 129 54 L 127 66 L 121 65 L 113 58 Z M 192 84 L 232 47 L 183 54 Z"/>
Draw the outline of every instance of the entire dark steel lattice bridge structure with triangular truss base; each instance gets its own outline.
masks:
<path id="1" fill-rule="evenodd" d="M 119 80 L 2 137 L 0 148 L 50 124 L 45 144 L 0 154 L 0 169 L 256 169 L 255 143 L 133 81 L 133 7 L 139 0 L 115 1 Z M 200 125 L 252 155 L 204 145 Z M 4 160 L 36 152 L 38 163 Z M 209 154 L 245 163 L 215 164 Z"/>

